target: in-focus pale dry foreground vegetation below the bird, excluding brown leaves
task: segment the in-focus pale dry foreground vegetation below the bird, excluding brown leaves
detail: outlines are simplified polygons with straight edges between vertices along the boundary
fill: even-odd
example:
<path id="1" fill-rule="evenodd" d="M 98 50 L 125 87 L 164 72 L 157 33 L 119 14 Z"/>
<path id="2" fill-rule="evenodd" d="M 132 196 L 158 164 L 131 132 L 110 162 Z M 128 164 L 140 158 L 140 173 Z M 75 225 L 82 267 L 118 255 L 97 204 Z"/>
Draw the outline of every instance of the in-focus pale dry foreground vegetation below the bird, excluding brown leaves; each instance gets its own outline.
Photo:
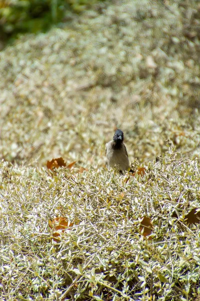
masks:
<path id="1" fill-rule="evenodd" d="M 200 236 L 184 219 L 199 207 L 199 165 L 168 153 L 126 183 L 104 169 L 52 177 L 2 163 L 1 299 L 193 300 Z M 73 223 L 59 243 L 48 227 L 56 216 Z M 139 233 L 143 216 L 151 240 Z"/>

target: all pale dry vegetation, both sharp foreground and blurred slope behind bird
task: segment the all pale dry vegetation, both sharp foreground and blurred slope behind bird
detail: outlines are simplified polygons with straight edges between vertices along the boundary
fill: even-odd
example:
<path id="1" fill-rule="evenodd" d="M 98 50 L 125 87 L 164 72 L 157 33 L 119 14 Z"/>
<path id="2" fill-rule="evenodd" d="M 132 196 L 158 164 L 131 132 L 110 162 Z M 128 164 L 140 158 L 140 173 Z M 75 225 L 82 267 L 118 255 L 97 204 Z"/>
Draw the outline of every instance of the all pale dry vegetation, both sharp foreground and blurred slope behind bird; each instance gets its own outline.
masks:
<path id="1" fill-rule="evenodd" d="M 0 168 L 2 300 L 197 297 L 199 27 L 197 1 L 116 1 L 0 53 L 0 156 L 23 164 Z M 165 156 L 142 178 L 108 173 L 115 127 L 131 161 Z M 76 168 L 41 168 L 60 156 Z M 73 222 L 59 245 L 56 216 Z"/>

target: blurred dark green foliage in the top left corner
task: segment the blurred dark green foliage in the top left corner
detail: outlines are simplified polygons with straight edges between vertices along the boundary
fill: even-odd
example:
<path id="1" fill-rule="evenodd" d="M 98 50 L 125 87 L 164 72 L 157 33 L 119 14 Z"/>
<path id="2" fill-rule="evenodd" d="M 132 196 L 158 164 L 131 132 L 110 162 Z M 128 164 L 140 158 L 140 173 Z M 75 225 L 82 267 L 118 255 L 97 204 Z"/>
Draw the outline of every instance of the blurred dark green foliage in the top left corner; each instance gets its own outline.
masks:
<path id="1" fill-rule="evenodd" d="M 99 0 L 0 0 L 0 48 L 20 33 L 46 32 Z M 103 1 L 103 0 L 101 0 Z"/>

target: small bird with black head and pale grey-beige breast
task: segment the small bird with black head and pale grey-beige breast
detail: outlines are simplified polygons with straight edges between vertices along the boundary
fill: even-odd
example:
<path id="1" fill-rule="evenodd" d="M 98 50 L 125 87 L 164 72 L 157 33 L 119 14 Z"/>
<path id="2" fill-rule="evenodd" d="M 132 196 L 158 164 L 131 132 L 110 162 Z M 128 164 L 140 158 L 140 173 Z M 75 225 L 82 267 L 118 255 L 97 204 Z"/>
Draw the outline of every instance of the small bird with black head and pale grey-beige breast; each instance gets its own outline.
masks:
<path id="1" fill-rule="evenodd" d="M 129 168 L 128 154 L 123 144 L 123 132 L 117 129 L 114 133 L 113 140 L 105 145 L 105 155 L 110 167 L 116 168 L 117 171 L 127 171 Z"/>

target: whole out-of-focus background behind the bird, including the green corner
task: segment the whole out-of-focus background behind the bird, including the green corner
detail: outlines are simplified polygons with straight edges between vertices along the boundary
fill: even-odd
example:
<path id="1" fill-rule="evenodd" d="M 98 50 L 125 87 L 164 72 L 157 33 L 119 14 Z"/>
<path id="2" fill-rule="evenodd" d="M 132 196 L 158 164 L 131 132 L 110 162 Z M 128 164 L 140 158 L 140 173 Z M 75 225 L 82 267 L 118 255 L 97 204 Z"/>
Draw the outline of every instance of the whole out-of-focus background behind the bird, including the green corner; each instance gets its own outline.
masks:
<path id="1" fill-rule="evenodd" d="M 12 0 L 0 15 L 13 41 L 0 51 L 0 159 L 103 167 L 116 127 L 130 161 L 167 139 L 199 154 L 198 0 Z"/>

